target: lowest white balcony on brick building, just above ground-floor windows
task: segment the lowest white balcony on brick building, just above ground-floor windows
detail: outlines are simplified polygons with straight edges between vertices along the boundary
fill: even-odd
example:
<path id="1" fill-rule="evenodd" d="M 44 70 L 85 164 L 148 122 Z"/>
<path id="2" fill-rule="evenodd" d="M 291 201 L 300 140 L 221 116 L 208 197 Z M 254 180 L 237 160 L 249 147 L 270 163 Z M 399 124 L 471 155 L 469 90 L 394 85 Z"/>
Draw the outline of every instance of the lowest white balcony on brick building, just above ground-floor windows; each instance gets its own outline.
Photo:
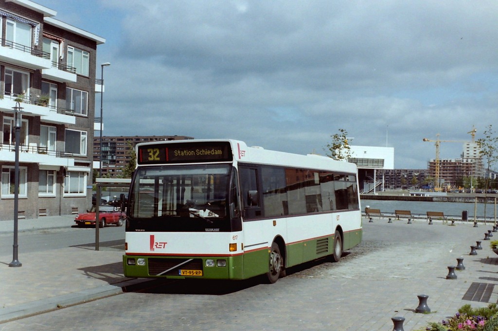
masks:
<path id="1" fill-rule="evenodd" d="M 0 160 L 2 162 L 14 162 L 15 145 L 1 144 Z M 47 148 L 39 147 L 36 144 L 29 144 L 28 146 L 19 146 L 19 162 L 52 166 L 74 166 L 74 157 L 72 153 L 49 151 Z"/>

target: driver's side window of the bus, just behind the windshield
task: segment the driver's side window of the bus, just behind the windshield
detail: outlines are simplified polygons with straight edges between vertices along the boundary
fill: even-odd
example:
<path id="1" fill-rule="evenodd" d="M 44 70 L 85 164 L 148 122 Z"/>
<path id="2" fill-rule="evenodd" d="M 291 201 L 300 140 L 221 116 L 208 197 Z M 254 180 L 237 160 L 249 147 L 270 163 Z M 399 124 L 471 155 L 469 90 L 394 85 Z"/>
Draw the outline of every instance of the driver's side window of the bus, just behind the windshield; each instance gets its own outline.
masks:
<path id="1" fill-rule="evenodd" d="M 249 220 L 261 217 L 261 199 L 259 197 L 257 168 L 239 167 L 241 197 L 244 204 L 244 218 Z"/>

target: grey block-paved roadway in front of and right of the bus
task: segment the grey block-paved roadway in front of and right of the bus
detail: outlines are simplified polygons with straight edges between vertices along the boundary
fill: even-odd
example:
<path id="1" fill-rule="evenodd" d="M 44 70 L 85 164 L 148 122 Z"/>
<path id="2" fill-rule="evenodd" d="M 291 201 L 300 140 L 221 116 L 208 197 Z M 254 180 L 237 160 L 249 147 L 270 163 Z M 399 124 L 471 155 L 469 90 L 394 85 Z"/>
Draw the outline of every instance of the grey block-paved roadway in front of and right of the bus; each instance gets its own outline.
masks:
<path id="1" fill-rule="evenodd" d="M 393 316 L 405 316 L 405 330 L 417 330 L 470 303 L 461 298 L 471 281 L 446 280 L 446 266 L 468 255 L 483 228 L 385 220 L 364 227 L 362 244 L 339 263 L 307 263 L 275 284 L 153 280 L 121 295 L 8 322 L 0 330 L 390 331 Z M 414 314 L 421 293 L 436 307 L 432 314 Z"/>

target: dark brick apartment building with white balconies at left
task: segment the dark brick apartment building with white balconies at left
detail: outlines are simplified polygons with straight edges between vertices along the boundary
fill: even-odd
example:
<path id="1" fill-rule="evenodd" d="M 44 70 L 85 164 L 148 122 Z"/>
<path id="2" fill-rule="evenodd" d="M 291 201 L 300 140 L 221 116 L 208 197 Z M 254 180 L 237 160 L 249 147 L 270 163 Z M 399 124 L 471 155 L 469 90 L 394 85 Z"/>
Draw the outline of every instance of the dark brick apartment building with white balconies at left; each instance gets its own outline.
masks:
<path id="1" fill-rule="evenodd" d="M 0 0 L 0 220 L 91 205 L 97 46 L 105 39 L 30 0 Z M 20 111 L 16 111 L 20 110 Z M 17 120 L 16 120 L 17 117 Z"/>

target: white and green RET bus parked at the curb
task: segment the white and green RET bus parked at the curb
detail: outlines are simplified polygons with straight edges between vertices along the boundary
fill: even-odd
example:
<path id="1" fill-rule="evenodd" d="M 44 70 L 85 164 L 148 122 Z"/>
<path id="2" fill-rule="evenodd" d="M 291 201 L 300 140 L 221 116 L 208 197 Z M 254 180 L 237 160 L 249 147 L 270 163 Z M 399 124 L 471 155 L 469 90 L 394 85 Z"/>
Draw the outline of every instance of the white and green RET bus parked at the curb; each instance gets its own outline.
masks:
<path id="1" fill-rule="evenodd" d="M 237 140 L 137 144 L 124 275 L 274 283 L 362 240 L 355 164 Z"/>

